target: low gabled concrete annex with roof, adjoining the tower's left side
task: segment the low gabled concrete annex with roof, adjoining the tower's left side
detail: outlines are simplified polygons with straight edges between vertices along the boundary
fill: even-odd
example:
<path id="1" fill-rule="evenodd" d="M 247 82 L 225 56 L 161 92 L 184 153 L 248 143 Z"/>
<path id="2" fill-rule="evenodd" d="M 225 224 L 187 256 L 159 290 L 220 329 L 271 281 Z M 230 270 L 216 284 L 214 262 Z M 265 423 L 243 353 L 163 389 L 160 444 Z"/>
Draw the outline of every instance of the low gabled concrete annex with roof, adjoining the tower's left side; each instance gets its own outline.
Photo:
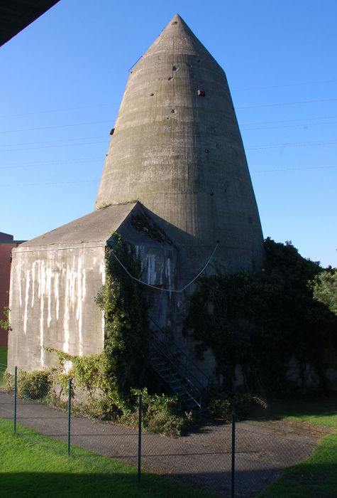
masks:
<path id="1" fill-rule="evenodd" d="M 55 354 L 45 347 L 80 356 L 102 351 L 104 316 L 95 297 L 114 231 L 136 245 L 145 282 L 175 285 L 177 251 L 139 203 L 108 206 L 22 244 L 13 250 L 10 371 L 48 369 Z M 167 317 L 167 300 L 156 309 Z"/>

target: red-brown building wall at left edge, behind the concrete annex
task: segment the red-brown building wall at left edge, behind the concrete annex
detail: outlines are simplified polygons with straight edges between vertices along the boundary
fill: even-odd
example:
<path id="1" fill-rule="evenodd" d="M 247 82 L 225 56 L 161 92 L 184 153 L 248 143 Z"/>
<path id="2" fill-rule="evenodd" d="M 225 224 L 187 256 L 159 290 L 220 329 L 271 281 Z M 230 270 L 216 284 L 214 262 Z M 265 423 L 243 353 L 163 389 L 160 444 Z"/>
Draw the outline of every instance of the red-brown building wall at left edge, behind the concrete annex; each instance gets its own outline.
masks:
<path id="1" fill-rule="evenodd" d="M 24 240 L 13 240 L 13 235 L 0 232 L 0 319 L 6 319 L 4 307 L 9 305 L 9 278 L 11 275 L 11 250 Z M 0 327 L 0 346 L 7 346 L 8 332 Z"/>

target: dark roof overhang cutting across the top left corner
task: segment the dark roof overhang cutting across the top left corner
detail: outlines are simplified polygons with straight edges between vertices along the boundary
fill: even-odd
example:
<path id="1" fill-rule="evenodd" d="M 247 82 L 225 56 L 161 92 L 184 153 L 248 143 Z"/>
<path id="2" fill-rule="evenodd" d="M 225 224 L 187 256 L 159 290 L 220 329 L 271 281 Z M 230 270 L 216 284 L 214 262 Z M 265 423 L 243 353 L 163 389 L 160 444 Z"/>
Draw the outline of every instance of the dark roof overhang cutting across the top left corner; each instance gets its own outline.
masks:
<path id="1" fill-rule="evenodd" d="M 60 0 L 1 0 L 0 46 L 16 36 Z"/>

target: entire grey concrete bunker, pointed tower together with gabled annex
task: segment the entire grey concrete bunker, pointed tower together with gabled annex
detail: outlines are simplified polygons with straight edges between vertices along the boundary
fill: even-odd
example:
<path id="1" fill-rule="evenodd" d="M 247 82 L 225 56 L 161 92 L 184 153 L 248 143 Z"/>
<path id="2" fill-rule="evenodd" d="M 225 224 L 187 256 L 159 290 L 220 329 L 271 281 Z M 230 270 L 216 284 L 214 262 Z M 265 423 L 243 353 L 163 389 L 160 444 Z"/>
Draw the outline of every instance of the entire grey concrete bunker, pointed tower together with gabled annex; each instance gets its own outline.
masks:
<path id="1" fill-rule="evenodd" d="M 13 253 L 10 369 L 50 366 L 43 346 L 101 351 L 104 318 L 94 297 L 112 231 L 136 245 L 143 280 L 158 287 L 149 290 L 150 316 L 192 356 L 181 330 L 194 287 L 163 289 L 187 285 L 217 244 L 211 264 L 226 271 L 263 260 L 226 75 L 178 15 L 133 68 L 111 133 L 96 211 Z M 212 375 L 213 356 L 201 366 Z"/>

